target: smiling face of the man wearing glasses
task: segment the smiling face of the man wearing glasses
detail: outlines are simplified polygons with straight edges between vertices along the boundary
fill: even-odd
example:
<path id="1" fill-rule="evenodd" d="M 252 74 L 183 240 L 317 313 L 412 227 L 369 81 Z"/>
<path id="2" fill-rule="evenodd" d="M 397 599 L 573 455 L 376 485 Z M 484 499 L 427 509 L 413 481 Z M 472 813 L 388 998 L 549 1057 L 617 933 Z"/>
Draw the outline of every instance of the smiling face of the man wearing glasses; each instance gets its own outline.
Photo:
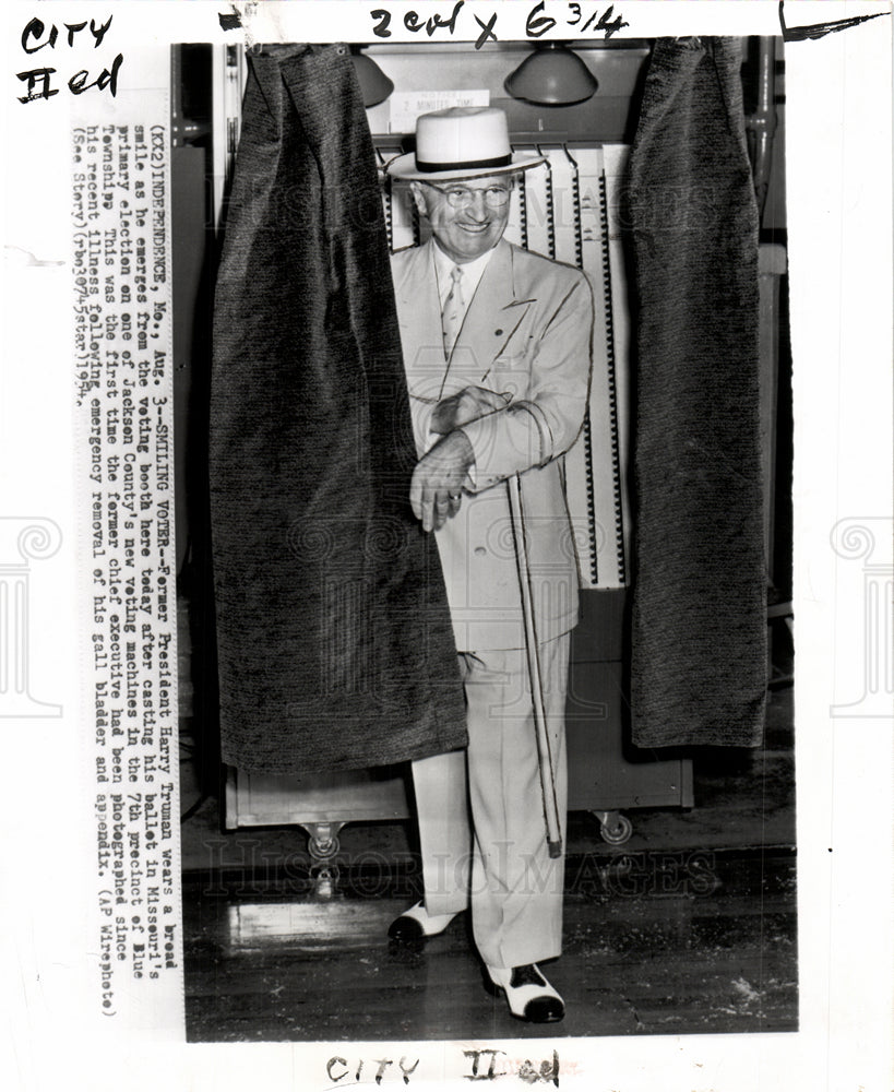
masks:
<path id="1" fill-rule="evenodd" d="M 414 182 L 413 193 L 441 249 L 462 264 L 480 258 L 502 238 L 512 187 L 511 175 L 488 175 L 458 182 Z"/>

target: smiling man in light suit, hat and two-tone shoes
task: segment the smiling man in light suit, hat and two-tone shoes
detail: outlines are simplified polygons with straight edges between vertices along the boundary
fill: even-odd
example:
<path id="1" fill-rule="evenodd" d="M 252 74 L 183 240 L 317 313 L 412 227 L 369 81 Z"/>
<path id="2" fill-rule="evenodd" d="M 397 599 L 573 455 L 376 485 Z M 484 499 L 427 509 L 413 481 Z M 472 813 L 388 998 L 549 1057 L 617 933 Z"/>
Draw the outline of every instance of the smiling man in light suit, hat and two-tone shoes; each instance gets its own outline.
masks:
<path id="1" fill-rule="evenodd" d="M 410 501 L 438 542 L 468 748 L 413 763 L 425 895 L 390 936 L 434 936 L 470 904 L 485 985 L 520 1019 L 560 1020 L 563 1001 L 537 964 L 561 951 L 563 858 L 547 851 L 506 479 L 520 475 L 564 844 L 579 578 L 562 455 L 586 407 L 592 297 L 579 270 L 502 237 L 518 171 L 543 157 L 511 153 L 501 110 L 422 115 L 416 136 L 415 154 L 389 165 L 432 232 L 392 260 L 420 456 Z"/>

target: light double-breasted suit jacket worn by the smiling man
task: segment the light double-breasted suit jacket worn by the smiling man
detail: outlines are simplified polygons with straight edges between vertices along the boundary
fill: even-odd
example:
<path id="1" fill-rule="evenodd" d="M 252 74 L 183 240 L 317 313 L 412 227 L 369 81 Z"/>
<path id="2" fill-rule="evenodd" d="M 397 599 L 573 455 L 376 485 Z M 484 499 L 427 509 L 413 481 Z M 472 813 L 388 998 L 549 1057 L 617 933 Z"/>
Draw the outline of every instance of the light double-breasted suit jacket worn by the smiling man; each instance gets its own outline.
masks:
<path id="1" fill-rule="evenodd" d="M 445 358 L 433 240 L 392 257 L 417 452 L 440 399 L 466 387 L 506 396 L 463 425 L 475 454 L 461 509 L 436 532 L 461 651 L 525 645 L 505 479 L 521 474 L 538 641 L 577 620 L 577 555 L 562 455 L 576 439 L 589 388 L 593 301 L 580 270 L 501 240 Z"/>

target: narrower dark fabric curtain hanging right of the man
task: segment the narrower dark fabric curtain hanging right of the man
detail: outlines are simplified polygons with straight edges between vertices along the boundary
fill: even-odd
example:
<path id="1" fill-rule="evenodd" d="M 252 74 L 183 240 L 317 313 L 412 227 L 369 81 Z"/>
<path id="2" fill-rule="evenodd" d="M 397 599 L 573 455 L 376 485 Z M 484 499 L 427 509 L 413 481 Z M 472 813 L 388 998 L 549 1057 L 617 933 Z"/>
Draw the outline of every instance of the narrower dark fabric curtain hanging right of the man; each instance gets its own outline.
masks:
<path id="1" fill-rule="evenodd" d="M 656 44 L 630 164 L 633 741 L 754 746 L 766 692 L 758 211 L 736 38 Z"/>

